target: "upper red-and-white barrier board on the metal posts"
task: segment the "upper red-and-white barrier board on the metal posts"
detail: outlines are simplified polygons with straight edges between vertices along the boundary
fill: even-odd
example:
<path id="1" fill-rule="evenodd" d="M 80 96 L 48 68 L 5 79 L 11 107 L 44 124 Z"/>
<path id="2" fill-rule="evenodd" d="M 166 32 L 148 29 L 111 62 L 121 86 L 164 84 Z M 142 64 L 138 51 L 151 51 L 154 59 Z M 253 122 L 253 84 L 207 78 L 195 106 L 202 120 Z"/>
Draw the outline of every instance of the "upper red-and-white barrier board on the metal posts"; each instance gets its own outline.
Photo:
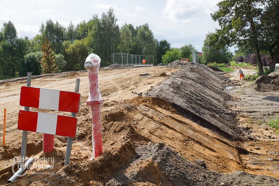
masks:
<path id="1" fill-rule="evenodd" d="M 80 93 L 22 86 L 20 106 L 78 113 Z"/>

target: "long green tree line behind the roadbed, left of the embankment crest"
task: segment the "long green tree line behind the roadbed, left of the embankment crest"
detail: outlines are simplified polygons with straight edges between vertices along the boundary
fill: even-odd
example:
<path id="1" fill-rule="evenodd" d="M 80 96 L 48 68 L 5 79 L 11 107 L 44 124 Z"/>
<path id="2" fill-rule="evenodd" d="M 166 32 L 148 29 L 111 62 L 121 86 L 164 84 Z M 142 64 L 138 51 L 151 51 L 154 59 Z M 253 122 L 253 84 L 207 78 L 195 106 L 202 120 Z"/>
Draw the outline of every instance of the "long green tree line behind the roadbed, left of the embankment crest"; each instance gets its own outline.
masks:
<path id="1" fill-rule="evenodd" d="M 53 54 L 46 61 L 44 53 L 50 49 Z M 47 20 L 31 39 L 18 38 L 14 24 L 8 21 L 0 30 L 0 77 L 24 76 L 27 72 L 39 75 L 45 72 L 42 61 L 51 62 L 52 73 L 83 70 L 84 60 L 92 52 L 100 56 L 101 67 L 112 64 L 113 53 L 118 52 L 154 55 L 156 64 L 168 50 L 170 43 L 155 39 L 147 23 L 136 27 L 125 23 L 119 27 L 113 8 L 100 18 L 94 14 L 87 22 L 70 22 L 67 27 Z"/>

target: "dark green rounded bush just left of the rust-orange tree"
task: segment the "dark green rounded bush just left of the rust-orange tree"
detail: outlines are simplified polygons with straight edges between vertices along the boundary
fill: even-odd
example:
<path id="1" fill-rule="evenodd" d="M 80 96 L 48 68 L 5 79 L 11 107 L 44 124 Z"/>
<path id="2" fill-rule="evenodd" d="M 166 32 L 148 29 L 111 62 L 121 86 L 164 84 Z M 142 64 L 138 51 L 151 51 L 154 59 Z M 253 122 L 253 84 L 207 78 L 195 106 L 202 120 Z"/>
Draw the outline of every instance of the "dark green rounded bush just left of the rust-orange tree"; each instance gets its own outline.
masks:
<path id="1" fill-rule="evenodd" d="M 42 68 L 39 61 L 41 60 L 42 55 L 43 53 L 41 51 L 24 55 L 24 60 L 21 60 L 19 64 L 19 75 L 26 76 L 28 72 L 31 72 L 34 76 L 40 75 Z"/>

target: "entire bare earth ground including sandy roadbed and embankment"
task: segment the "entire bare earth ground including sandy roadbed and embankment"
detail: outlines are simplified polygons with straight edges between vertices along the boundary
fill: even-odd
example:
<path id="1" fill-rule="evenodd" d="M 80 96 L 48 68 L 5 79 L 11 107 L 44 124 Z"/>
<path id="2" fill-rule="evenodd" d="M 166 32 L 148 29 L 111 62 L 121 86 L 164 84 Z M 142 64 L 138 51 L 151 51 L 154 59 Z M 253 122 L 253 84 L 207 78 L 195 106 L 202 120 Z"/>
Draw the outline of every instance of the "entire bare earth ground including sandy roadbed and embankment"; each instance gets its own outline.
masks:
<path id="1" fill-rule="evenodd" d="M 239 82 L 237 72 L 230 76 L 239 86 L 226 91 L 227 84 L 206 67 L 157 67 L 156 77 L 153 70 L 100 71 L 104 153 L 93 161 L 89 160 L 92 131 L 86 105 L 87 74 L 32 80 L 32 86 L 71 91 L 75 78 L 80 78 L 82 97 L 70 165 L 31 185 L 279 185 L 278 135 L 262 125 L 270 113 L 278 112 L 278 105 L 255 99 L 258 92 L 252 96 L 250 82 Z M 139 77 L 143 72 L 151 76 Z M 164 72 L 167 76 L 160 76 Z M 8 108 L 1 162 L 20 155 L 21 131 L 16 127 L 19 90 L 24 83 L 0 86 L 0 109 Z M 249 92 L 249 99 L 248 93 L 239 91 Z M 259 113 L 250 112 L 247 104 Z M 257 120 L 261 123 L 254 122 Z M 54 152 L 43 154 L 42 134 L 29 132 L 27 155 L 63 162 L 66 144 L 67 138 L 55 136 Z M 28 174 L 37 170 L 31 168 Z M 1 175 L 0 183 L 5 184 L 11 175 Z"/>

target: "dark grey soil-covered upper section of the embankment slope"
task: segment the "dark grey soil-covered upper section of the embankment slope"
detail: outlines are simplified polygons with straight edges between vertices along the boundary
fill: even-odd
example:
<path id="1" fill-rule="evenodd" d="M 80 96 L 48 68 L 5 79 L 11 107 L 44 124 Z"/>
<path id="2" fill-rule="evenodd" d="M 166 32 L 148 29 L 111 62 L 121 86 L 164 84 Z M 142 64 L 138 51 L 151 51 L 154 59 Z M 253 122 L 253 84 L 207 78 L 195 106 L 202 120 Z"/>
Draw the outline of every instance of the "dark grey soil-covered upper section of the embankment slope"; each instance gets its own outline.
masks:
<path id="1" fill-rule="evenodd" d="M 237 137 L 236 115 L 225 107 L 229 95 L 222 91 L 220 81 L 204 66 L 188 66 L 173 73 L 147 95 L 169 101 L 180 114 L 201 126 Z"/>

